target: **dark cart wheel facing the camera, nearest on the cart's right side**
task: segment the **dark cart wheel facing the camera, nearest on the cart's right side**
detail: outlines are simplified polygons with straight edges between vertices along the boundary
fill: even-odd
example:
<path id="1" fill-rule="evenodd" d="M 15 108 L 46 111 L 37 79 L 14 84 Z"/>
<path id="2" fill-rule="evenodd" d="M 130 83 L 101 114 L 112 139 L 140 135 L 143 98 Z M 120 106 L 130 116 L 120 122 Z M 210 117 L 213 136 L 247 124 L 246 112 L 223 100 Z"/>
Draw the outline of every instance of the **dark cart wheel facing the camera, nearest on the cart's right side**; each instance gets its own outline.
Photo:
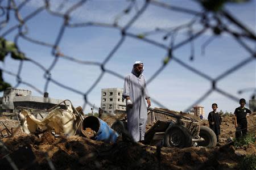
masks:
<path id="1" fill-rule="evenodd" d="M 166 130 L 164 143 L 167 147 L 190 147 L 192 145 L 192 137 L 184 126 L 173 125 Z"/>

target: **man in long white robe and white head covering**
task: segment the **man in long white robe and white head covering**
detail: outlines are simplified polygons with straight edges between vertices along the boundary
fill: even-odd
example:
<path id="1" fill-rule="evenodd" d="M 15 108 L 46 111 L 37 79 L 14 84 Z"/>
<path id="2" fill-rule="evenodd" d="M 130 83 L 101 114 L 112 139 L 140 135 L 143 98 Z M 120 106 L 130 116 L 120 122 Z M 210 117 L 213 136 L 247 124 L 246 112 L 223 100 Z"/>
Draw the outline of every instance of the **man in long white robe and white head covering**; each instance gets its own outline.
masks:
<path id="1" fill-rule="evenodd" d="M 143 63 L 136 61 L 131 73 L 125 77 L 123 87 L 123 98 L 126 99 L 128 131 L 136 142 L 144 140 L 147 107 L 151 105 L 150 96 L 146 88 L 146 80 L 142 74 L 143 70 Z"/>

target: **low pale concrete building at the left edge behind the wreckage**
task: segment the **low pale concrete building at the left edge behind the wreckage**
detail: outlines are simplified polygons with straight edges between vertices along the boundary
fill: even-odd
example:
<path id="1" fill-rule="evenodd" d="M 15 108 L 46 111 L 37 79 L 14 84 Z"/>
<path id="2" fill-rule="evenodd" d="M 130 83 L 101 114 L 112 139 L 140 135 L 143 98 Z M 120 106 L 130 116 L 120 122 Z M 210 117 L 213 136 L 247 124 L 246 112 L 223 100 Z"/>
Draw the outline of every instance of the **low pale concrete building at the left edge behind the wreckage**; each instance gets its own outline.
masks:
<path id="1" fill-rule="evenodd" d="M 49 109 L 63 101 L 49 98 L 48 93 L 45 93 L 44 97 L 32 96 L 31 91 L 16 88 L 7 88 L 0 100 L 2 102 L 1 112 L 7 113 L 13 113 L 18 106 L 42 110 Z"/>

